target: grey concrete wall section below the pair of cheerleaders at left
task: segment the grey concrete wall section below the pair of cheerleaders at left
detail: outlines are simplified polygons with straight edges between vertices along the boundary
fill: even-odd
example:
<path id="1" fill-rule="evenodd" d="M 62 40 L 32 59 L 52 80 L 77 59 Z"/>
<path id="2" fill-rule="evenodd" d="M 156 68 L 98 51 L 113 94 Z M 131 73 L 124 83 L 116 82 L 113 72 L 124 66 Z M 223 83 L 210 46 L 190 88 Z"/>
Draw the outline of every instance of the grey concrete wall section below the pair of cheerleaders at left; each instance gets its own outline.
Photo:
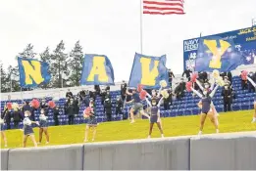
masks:
<path id="1" fill-rule="evenodd" d="M 83 145 L 9 150 L 8 170 L 81 170 Z"/>

